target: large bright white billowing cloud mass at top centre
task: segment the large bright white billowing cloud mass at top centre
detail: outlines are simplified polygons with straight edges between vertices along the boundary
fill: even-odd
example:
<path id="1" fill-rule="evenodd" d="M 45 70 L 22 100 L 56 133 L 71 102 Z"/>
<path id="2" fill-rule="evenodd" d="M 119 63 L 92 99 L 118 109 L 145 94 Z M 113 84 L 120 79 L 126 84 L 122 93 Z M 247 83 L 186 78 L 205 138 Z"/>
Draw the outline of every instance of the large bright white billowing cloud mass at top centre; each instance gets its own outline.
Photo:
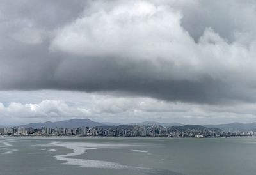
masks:
<path id="1" fill-rule="evenodd" d="M 168 6 L 127 2 L 110 11 L 84 14 L 60 28 L 51 49 L 85 56 L 117 54 L 124 58 L 157 59 L 156 49 L 163 47 L 166 52 L 170 42 L 192 41 L 180 27 L 180 18 L 179 11 Z"/>

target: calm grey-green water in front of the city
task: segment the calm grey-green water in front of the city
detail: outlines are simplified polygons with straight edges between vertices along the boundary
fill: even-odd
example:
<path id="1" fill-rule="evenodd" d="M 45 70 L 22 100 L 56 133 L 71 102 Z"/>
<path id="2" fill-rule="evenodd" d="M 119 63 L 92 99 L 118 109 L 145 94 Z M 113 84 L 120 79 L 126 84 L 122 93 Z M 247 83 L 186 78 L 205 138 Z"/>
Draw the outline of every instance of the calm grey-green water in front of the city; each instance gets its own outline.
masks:
<path id="1" fill-rule="evenodd" d="M 255 174 L 256 138 L 0 137 L 0 174 Z"/>

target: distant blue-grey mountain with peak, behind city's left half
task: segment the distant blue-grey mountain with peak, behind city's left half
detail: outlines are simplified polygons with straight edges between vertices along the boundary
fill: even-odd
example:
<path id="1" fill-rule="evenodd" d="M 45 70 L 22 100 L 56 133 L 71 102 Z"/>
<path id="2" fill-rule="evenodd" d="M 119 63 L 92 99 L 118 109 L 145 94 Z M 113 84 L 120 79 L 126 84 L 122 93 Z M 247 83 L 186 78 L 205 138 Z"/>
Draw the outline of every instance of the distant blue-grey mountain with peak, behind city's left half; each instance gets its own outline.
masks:
<path id="1" fill-rule="evenodd" d="M 45 123 L 29 123 L 27 125 L 21 125 L 20 127 L 25 127 L 25 128 L 29 128 L 29 127 L 32 127 L 32 128 L 42 128 L 42 127 L 79 128 L 79 127 L 83 127 L 83 126 L 95 127 L 95 126 L 102 126 L 102 125 L 104 125 L 104 124 L 92 121 L 90 119 L 70 119 L 70 120 L 56 121 L 56 122 L 47 121 Z"/>

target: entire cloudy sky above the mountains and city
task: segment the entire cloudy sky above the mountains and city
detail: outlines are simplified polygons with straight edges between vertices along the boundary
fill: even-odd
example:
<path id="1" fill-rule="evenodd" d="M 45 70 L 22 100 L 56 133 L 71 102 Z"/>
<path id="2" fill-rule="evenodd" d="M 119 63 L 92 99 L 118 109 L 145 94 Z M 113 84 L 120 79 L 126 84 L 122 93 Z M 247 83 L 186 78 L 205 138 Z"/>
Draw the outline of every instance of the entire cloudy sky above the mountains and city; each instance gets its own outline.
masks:
<path id="1" fill-rule="evenodd" d="M 256 3 L 0 0 L 0 125 L 256 121 Z"/>

